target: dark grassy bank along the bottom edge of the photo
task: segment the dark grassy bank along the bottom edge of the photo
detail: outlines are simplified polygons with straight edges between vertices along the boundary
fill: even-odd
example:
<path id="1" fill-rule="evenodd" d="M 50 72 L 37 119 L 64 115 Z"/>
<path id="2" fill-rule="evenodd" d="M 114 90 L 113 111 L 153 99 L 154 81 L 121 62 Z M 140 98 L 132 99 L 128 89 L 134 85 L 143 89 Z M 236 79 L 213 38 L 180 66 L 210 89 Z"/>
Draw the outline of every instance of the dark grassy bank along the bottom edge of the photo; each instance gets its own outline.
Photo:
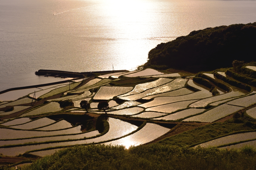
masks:
<path id="1" fill-rule="evenodd" d="M 155 143 L 130 147 L 75 146 L 37 160 L 23 170 L 50 169 L 255 169 L 256 150 L 186 148 Z"/>

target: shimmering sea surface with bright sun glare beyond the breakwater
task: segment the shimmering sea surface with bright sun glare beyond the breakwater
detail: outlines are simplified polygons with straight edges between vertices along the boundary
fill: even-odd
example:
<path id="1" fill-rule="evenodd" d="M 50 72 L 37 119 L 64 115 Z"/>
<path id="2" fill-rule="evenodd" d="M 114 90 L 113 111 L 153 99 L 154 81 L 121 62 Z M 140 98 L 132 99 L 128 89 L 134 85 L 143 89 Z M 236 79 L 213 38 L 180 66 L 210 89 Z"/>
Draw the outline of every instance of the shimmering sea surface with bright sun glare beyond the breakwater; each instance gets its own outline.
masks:
<path id="1" fill-rule="evenodd" d="M 256 21 L 256 1 L 0 0 L 0 91 L 61 81 L 39 69 L 134 70 L 157 44 Z"/>

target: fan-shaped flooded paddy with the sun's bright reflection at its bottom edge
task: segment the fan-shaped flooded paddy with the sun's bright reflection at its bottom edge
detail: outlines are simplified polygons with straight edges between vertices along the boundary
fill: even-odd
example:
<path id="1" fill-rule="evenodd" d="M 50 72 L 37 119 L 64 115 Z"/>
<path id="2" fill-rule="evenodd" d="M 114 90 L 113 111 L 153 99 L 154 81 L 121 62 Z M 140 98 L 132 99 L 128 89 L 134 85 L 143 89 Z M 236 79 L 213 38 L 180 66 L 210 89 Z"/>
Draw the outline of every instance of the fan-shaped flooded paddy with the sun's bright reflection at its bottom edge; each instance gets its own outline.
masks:
<path id="1" fill-rule="evenodd" d="M 105 145 L 123 145 L 127 149 L 130 146 L 138 146 L 142 145 L 144 143 L 150 142 L 165 133 L 167 133 L 170 129 L 162 127 L 160 125 L 154 124 L 154 123 L 147 123 L 142 129 L 135 132 L 134 134 L 131 134 L 129 136 L 126 136 L 124 138 L 114 140 L 111 142 L 106 142 Z"/>

